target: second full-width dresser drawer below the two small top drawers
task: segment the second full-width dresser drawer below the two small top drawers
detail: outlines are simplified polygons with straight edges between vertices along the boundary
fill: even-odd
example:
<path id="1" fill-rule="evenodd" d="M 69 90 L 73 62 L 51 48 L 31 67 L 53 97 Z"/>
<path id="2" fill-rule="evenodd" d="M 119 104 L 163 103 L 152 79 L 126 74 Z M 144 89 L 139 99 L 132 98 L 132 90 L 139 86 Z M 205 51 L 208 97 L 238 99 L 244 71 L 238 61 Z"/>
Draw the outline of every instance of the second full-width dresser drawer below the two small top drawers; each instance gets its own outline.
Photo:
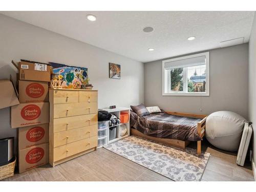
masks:
<path id="1" fill-rule="evenodd" d="M 98 124 L 98 114 L 78 115 L 53 119 L 53 133 L 76 129 L 82 126 Z"/>

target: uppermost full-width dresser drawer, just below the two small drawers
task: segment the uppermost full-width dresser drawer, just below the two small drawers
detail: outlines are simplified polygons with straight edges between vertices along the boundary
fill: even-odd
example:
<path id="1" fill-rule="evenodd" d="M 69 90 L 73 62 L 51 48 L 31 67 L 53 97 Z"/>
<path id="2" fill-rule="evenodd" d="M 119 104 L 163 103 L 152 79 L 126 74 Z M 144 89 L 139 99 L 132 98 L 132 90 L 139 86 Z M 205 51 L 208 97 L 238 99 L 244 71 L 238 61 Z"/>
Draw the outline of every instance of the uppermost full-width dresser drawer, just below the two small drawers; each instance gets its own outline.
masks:
<path id="1" fill-rule="evenodd" d="M 65 103 L 54 104 L 53 118 L 70 117 L 98 113 L 98 103 Z"/>

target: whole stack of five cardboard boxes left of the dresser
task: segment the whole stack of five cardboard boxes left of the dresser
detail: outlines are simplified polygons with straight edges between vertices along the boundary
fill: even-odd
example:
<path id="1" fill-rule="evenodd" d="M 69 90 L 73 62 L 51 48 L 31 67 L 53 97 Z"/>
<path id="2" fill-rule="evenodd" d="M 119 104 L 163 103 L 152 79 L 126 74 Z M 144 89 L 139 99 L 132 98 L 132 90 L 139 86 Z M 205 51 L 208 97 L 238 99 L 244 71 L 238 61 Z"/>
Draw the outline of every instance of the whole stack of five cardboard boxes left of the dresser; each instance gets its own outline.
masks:
<path id="1" fill-rule="evenodd" d="M 18 127 L 19 173 L 49 162 L 48 82 L 51 68 L 21 61 L 16 66 L 18 99 L 11 107 L 11 127 Z"/>

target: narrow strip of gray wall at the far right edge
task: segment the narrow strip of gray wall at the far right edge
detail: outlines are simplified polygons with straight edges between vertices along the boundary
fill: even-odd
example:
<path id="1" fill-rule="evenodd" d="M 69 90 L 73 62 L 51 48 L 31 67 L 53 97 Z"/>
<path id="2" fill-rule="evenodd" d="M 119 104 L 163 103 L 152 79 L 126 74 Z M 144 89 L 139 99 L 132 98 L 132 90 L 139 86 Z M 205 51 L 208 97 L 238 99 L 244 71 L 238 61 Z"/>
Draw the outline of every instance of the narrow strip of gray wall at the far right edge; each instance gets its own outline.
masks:
<path id="1" fill-rule="evenodd" d="M 256 165 L 256 14 L 254 15 L 249 40 L 249 120 L 253 123 L 253 160 Z M 255 173 L 256 174 L 256 173 Z"/>

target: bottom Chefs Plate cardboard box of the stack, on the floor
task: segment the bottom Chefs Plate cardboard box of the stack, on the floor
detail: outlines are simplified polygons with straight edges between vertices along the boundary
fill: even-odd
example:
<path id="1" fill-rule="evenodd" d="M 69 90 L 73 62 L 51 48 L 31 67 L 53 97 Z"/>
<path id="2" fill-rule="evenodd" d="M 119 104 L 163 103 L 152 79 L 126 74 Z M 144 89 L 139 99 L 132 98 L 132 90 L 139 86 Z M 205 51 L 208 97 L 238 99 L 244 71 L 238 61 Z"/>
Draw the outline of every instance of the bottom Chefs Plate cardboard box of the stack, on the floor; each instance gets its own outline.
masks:
<path id="1" fill-rule="evenodd" d="M 19 173 L 49 163 L 49 143 L 18 151 Z"/>

